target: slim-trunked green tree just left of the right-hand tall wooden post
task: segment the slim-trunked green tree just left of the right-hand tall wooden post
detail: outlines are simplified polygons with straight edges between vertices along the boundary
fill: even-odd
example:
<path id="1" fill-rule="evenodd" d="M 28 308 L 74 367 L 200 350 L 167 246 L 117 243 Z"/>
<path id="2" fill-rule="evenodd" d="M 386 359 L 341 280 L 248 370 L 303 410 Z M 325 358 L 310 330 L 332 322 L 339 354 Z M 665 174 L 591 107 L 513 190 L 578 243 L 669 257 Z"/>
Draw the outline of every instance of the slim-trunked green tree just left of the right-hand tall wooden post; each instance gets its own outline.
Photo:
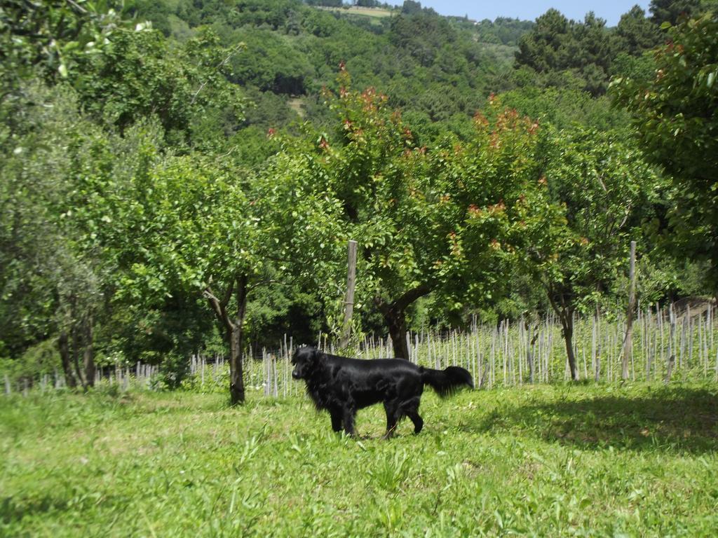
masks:
<path id="1" fill-rule="evenodd" d="M 651 167 L 618 133 L 560 131 L 551 146 L 542 181 L 562 217 L 534 236 L 526 262 L 559 316 L 571 377 L 578 379 L 574 315 L 612 291 L 659 193 Z"/>

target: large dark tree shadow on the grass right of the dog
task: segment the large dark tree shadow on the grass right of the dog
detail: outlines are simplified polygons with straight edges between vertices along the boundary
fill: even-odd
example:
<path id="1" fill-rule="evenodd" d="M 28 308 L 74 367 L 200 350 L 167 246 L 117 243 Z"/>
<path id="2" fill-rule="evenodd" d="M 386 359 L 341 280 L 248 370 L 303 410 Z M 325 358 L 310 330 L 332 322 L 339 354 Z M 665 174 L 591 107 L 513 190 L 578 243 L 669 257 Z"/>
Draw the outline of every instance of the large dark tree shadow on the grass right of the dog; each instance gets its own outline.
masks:
<path id="1" fill-rule="evenodd" d="M 569 390 L 551 402 L 498 407 L 465 429 L 489 434 L 519 430 L 583 449 L 707 453 L 718 450 L 718 395 L 685 387 L 596 397 Z"/>

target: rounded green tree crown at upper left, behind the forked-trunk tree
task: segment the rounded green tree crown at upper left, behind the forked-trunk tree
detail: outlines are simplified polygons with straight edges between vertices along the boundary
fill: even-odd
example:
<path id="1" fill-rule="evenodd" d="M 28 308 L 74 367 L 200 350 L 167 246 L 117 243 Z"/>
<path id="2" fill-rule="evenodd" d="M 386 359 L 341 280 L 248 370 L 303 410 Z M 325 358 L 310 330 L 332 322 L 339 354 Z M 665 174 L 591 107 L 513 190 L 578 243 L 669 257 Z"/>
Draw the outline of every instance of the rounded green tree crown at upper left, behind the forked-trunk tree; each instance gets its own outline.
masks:
<path id="1" fill-rule="evenodd" d="M 169 143 L 221 143 L 243 119 L 241 92 L 227 80 L 241 48 L 223 49 L 206 31 L 172 54 L 159 32 L 117 32 L 83 65 L 75 86 L 89 113 L 121 130 L 157 116 Z"/>

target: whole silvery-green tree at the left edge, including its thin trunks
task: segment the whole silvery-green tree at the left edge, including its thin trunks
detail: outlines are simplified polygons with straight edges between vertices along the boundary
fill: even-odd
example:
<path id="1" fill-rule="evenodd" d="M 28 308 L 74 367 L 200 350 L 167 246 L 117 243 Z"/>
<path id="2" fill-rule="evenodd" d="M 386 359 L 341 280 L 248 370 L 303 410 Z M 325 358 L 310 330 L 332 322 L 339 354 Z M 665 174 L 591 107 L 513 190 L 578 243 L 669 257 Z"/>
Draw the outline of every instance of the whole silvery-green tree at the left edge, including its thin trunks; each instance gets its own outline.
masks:
<path id="1" fill-rule="evenodd" d="M 91 192 L 136 169 L 111 151 L 115 137 L 78 113 L 70 88 L 19 89 L 27 102 L 14 103 L 14 131 L 1 143 L 0 324 L 14 355 L 56 337 L 67 384 L 88 387 L 116 270 L 97 242 L 106 214 L 93 212 Z"/>

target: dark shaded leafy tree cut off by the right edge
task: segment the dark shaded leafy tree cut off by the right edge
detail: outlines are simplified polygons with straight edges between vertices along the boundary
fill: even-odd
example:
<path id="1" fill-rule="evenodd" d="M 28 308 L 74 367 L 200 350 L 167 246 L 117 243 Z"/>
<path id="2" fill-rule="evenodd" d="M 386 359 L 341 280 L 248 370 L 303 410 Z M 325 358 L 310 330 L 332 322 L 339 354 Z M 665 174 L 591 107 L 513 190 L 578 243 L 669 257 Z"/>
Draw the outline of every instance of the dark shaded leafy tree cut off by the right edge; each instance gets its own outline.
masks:
<path id="1" fill-rule="evenodd" d="M 612 93 L 633 115 L 648 158 L 673 178 L 676 252 L 709 260 L 707 280 L 718 293 L 718 15 L 665 26 L 670 41 L 651 77 L 619 78 Z"/>

